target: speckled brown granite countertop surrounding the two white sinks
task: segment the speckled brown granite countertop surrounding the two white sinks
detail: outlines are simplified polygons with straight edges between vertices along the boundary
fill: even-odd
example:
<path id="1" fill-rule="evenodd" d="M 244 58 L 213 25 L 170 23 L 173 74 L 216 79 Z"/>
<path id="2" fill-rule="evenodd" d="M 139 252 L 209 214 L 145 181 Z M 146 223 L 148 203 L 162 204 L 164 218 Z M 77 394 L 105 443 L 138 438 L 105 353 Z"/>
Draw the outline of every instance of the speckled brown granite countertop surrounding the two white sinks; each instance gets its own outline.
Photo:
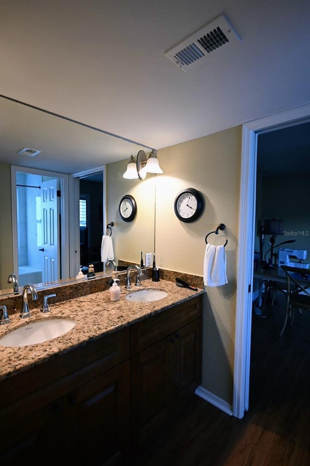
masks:
<path id="1" fill-rule="evenodd" d="M 43 314 L 39 307 L 31 309 L 32 316 L 25 320 L 19 313 L 9 316 L 11 323 L 0 325 L 0 337 L 21 325 L 42 319 L 62 317 L 74 320 L 76 325 L 68 333 L 44 343 L 24 347 L 0 346 L 0 380 L 204 293 L 202 289 L 192 291 L 172 282 L 148 279 L 143 280 L 140 287 L 133 285 L 130 292 L 153 288 L 166 291 L 168 296 L 157 301 L 133 302 L 125 300 L 129 291 L 124 286 L 121 288 L 119 301 L 111 301 L 109 290 L 105 290 L 56 304 L 50 300 L 50 312 Z"/>

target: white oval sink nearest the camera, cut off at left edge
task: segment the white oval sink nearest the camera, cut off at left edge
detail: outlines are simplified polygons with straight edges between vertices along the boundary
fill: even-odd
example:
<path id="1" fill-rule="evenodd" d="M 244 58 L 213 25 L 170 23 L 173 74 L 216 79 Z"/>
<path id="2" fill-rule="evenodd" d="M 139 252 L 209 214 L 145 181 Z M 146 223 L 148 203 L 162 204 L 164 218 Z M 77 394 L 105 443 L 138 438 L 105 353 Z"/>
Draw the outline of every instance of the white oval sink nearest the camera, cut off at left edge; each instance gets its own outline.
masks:
<path id="1" fill-rule="evenodd" d="M 44 319 L 22 325 L 0 338 L 0 346 L 27 346 L 43 343 L 73 329 L 76 323 L 69 319 Z"/>

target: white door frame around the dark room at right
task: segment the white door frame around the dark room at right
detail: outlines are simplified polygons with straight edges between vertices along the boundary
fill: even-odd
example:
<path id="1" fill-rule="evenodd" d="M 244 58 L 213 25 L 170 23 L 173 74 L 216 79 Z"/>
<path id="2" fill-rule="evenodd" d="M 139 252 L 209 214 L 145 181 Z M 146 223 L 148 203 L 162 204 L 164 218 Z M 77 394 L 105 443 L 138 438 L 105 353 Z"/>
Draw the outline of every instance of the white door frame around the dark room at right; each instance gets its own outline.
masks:
<path id="1" fill-rule="evenodd" d="M 238 231 L 243 241 L 238 250 L 233 383 L 233 416 L 239 418 L 248 411 L 249 399 L 258 135 L 307 121 L 310 121 L 309 104 L 243 125 Z"/>

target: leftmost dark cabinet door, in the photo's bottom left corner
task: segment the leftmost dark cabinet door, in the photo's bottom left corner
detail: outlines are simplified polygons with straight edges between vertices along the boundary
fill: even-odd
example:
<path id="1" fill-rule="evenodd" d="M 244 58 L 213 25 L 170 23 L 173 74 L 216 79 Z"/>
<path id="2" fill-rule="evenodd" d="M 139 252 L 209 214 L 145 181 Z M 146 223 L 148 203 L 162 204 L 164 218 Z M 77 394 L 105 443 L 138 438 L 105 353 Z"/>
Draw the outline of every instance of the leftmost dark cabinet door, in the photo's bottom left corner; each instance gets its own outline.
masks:
<path id="1" fill-rule="evenodd" d="M 63 400 L 1 426 L 0 465 L 59 464 L 63 458 Z"/>

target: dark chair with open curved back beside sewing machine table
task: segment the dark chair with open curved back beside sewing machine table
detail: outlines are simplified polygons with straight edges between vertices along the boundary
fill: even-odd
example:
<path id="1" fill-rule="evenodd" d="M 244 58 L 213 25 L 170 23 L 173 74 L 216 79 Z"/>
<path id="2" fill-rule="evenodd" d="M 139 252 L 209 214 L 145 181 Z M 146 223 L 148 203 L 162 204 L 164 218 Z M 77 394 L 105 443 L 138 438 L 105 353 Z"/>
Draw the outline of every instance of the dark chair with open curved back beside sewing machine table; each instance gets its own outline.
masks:
<path id="1" fill-rule="evenodd" d="M 281 266 L 281 268 L 286 276 L 286 312 L 280 336 L 289 317 L 292 325 L 295 308 L 300 312 L 301 309 L 310 311 L 310 269 L 291 266 Z"/>

